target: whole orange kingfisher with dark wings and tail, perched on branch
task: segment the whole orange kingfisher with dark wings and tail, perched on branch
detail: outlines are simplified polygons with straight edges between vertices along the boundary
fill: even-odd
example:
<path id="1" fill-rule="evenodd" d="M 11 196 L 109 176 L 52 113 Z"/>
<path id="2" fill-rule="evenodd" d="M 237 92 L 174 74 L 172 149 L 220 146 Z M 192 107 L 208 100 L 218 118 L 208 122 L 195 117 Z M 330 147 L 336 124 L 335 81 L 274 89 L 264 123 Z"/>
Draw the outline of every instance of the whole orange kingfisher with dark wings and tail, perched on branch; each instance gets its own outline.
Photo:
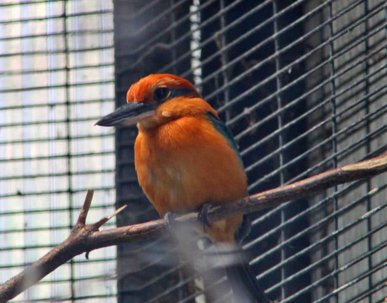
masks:
<path id="1" fill-rule="evenodd" d="M 223 205 L 248 195 L 247 178 L 237 145 L 217 112 L 187 80 L 151 74 L 134 83 L 127 104 L 96 123 L 137 124 L 134 145 L 138 181 L 157 212 L 197 211 L 209 203 Z M 211 223 L 205 230 L 215 243 L 237 247 L 243 217 Z M 247 262 L 226 267 L 241 302 L 269 302 Z M 248 276 L 244 288 L 240 284 Z"/>

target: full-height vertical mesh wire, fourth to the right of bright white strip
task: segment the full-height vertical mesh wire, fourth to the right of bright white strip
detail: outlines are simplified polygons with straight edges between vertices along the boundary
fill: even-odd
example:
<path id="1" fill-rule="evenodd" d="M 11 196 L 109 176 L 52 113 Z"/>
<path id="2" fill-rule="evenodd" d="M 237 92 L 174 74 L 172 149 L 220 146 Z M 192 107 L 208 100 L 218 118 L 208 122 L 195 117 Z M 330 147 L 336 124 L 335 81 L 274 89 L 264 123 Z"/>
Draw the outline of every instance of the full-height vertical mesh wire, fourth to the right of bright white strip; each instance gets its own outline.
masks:
<path id="1" fill-rule="evenodd" d="M 364 16 L 367 16 L 368 15 L 368 0 L 364 0 Z M 365 33 L 368 33 L 368 20 L 365 21 Z M 365 55 L 367 56 L 368 55 L 368 39 L 366 39 L 364 41 L 364 49 L 365 49 Z M 366 95 L 369 94 L 369 77 L 368 77 L 368 74 L 369 74 L 369 64 L 368 64 L 368 59 L 365 60 L 365 76 L 366 76 L 366 81 L 365 81 L 365 91 L 366 91 Z M 365 114 L 368 115 L 369 114 L 369 98 L 366 97 L 364 99 L 364 103 L 365 103 Z M 368 135 L 371 130 L 370 130 L 370 121 L 369 119 L 366 120 L 366 124 L 365 124 L 365 127 L 366 127 L 366 134 Z M 371 152 L 371 144 L 370 144 L 370 139 L 369 137 L 367 136 L 367 141 L 366 141 L 366 153 L 367 155 L 370 154 Z M 367 186 L 367 192 L 370 192 L 371 190 L 371 181 L 370 179 L 367 179 L 367 182 L 366 182 L 366 186 Z M 369 196 L 367 196 L 366 198 L 366 211 L 369 212 L 371 210 L 371 198 Z M 371 218 L 368 217 L 367 218 L 367 232 L 369 232 L 370 230 L 372 229 L 372 224 L 371 224 Z M 369 236 L 367 237 L 367 248 L 368 248 L 368 251 L 372 249 L 372 237 Z M 371 270 L 372 269 L 372 258 L 371 256 L 368 256 L 367 258 L 367 263 L 368 263 L 368 270 Z M 371 275 L 368 275 L 368 289 L 372 289 L 372 278 L 371 278 Z M 372 294 L 370 293 L 368 295 L 368 302 L 371 302 L 371 298 L 372 298 Z"/>

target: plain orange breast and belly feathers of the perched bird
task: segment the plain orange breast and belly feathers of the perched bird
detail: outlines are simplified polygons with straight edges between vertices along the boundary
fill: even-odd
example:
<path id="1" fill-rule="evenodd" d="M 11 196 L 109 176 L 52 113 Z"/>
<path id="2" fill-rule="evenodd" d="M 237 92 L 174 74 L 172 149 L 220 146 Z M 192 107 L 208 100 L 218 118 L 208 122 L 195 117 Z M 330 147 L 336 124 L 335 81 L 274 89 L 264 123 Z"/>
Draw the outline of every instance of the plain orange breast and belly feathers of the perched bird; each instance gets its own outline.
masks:
<path id="1" fill-rule="evenodd" d="M 161 216 L 230 203 L 247 195 L 240 160 L 205 115 L 140 131 L 135 143 L 139 183 Z M 212 224 L 214 241 L 234 241 L 241 217 Z"/>

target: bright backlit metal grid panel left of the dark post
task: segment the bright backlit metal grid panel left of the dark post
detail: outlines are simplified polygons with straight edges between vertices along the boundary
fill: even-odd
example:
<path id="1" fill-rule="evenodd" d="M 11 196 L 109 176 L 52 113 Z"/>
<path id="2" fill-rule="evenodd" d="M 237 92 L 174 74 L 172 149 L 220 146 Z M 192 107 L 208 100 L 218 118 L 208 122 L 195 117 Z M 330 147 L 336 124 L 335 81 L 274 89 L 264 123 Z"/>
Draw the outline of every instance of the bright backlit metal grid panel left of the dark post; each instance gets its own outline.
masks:
<path id="1" fill-rule="evenodd" d="M 113 4 L 0 4 L 0 281 L 70 233 L 87 188 L 88 220 L 113 212 Z M 114 222 L 108 224 L 114 225 Z M 115 301 L 114 247 L 78 256 L 15 301 Z"/>

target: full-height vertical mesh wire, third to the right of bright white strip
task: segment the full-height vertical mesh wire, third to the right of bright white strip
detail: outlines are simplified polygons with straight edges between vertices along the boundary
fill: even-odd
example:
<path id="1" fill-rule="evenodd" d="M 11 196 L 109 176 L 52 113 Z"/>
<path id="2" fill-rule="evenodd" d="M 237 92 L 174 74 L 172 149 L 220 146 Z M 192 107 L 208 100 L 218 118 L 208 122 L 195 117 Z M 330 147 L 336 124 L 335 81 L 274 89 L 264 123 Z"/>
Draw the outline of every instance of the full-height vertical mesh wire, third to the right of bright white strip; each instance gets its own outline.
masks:
<path id="1" fill-rule="evenodd" d="M 335 95 L 336 94 L 336 87 L 335 87 L 335 79 L 333 78 L 335 75 L 335 62 L 333 58 L 334 55 L 334 47 L 333 47 L 333 25 L 332 25 L 332 2 L 329 2 L 328 4 L 328 15 L 329 15 L 329 20 L 330 22 L 328 23 L 328 29 L 329 29 L 329 69 L 330 69 L 330 77 L 332 80 L 330 81 L 330 86 L 331 86 L 331 94 Z M 332 135 L 335 135 L 337 132 L 337 125 L 336 125 L 336 98 L 332 97 L 331 98 L 331 111 L 332 111 Z M 333 154 L 336 154 L 337 152 L 337 142 L 336 142 L 336 137 L 332 140 L 332 152 Z M 334 168 L 337 168 L 337 157 L 335 156 L 333 158 L 333 166 Z M 334 192 L 337 192 L 337 185 L 334 187 Z M 338 210 L 338 203 L 337 203 L 337 196 L 334 195 L 333 197 L 333 211 L 336 213 Z M 337 217 L 334 217 L 334 230 L 338 230 L 338 220 Z M 337 236 L 334 237 L 334 250 L 338 249 L 338 239 Z M 334 257 L 334 270 L 335 272 L 337 271 L 339 265 L 338 265 L 338 257 L 337 254 Z M 334 275 L 334 289 L 337 289 L 339 285 L 338 281 L 338 275 Z M 338 301 L 338 294 L 335 294 L 336 301 Z"/>

